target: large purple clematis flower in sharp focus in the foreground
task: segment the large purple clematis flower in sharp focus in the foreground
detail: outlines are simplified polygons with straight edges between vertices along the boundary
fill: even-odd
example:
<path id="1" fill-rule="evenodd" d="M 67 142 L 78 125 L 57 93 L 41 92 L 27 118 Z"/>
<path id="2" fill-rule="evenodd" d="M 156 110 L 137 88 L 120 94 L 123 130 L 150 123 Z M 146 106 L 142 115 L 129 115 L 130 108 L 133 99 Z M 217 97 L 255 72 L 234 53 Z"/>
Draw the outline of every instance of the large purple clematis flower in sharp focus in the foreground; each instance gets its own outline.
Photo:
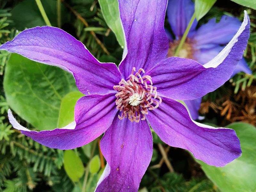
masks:
<path id="1" fill-rule="evenodd" d="M 166 59 L 167 0 L 119 0 L 125 34 L 123 60 L 100 63 L 85 46 L 59 28 L 27 29 L 0 49 L 58 66 L 74 75 L 86 96 L 75 106 L 75 121 L 62 129 L 30 131 L 8 115 L 14 128 L 50 148 L 81 147 L 105 132 L 100 147 L 107 166 L 96 191 L 137 191 L 152 156 L 149 124 L 168 145 L 189 150 L 197 159 L 224 166 L 241 155 L 232 129 L 191 120 L 176 100 L 193 100 L 214 91 L 232 75 L 250 34 L 244 22 L 218 57 L 197 61 Z"/>

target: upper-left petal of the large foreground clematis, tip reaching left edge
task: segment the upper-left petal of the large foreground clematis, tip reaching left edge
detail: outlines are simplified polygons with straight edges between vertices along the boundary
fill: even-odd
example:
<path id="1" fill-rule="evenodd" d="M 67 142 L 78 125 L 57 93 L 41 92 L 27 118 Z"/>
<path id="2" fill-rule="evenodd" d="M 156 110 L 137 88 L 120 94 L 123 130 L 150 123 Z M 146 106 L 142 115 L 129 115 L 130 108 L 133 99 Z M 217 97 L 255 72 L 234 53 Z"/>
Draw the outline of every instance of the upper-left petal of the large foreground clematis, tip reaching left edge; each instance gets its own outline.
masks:
<path id="1" fill-rule="evenodd" d="M 114 92 L 113 86 L 122 78 L 114 63 L 100 63 L 80 41 L 59 28 L 27 29 L 0 49 L 71 72 L 86 95 Z"/>

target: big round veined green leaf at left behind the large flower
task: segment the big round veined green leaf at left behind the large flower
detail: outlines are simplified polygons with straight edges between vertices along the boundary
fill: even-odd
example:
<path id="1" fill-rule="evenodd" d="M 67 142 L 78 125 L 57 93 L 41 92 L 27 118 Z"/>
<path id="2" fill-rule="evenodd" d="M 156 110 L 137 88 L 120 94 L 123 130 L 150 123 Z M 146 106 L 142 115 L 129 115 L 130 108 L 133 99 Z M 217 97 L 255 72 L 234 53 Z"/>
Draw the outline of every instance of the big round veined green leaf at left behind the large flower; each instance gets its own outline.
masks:
<path id="1" fill-rule="evenodd" d="M 5 96 L 11 109 L 39 130 L 58 127 L 64 96 L 76 91 L 73 76 L 12 53 L 4 74 Z"/>

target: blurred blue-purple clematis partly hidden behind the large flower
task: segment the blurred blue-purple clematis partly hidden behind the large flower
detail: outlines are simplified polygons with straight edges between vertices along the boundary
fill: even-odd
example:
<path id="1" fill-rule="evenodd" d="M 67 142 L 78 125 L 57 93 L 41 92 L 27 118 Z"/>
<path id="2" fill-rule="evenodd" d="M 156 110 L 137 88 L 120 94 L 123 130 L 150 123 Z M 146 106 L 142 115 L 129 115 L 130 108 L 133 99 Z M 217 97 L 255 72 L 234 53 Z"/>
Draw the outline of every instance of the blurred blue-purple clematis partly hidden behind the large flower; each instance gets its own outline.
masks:
<path id="1" fill-rule="evenodd" d="M 174 55 L 194 11 L 195 4 L 191 0 L 168 1 L 168 21 L 172 28 L 172 32 L 175 35 L 175 39 L 172 39 L 172 35 L 166 30 L 169 38 L 168 57 L 172 57 Z M 196 29 L 196 25 L 197 21 L 195 20 L 178 56 L 193 59 L 201 64 L 205 64 L 220 53 L 224 48 L 223 45 L 228 44 L 236 34 L 237 29 L 241 25 L 241 21 L 234 17 L 222 16 L 218 23 L 216 23 L 216 18 L 214 18 L 198 29 Z M 252 71 L 248 67 L 244 58 L 238 62 L 232 76 L 241 71 L 247 74 L 252 74 Z M 198 119 L 198 110 L 200 108 L 201 101 L 202 98 L 184 101 L 192 119 Z"/>

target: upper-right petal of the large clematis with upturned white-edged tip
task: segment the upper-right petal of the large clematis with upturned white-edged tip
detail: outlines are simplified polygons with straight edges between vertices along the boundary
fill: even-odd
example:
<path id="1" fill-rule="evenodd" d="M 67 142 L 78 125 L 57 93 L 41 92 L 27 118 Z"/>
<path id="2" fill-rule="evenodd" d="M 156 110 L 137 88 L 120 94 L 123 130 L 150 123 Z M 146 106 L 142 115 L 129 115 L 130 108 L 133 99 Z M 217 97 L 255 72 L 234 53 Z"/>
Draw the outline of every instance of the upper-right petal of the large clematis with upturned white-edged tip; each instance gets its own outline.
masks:
<path id="1" fill-rule="evenodd" d="M 228 45 L 208 63 L 178 57 L 159 62 L 146 72 L 152 77 L 158 95 L 176 100 L 194 100 L 203 97 L 224 84 L 243 57 L 250 35 L 250 20 L 245 12 L 244 22 Z"/>

